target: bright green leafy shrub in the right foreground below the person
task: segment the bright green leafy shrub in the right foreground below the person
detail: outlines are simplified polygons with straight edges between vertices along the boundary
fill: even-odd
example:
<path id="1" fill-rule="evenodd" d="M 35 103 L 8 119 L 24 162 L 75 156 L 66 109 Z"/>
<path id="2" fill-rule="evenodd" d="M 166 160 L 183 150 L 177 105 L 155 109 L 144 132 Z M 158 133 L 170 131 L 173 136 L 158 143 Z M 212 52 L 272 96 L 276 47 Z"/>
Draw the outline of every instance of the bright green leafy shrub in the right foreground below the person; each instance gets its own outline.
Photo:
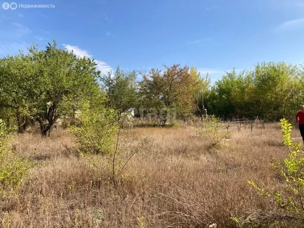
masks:
<path id="1" fill-rule="evenodd" d="M 288 227 L 303 227 L 304 223 L 304 151 L 301 143 L 295 143 L 291 140 L 290 133 L 292 125 L 286 119 L 281 119 L 281 130 L 283 134 L 282 144 L 287 148 L 288 157 L 282 161 L 274 159 L 270 165 L 274 167 L 282 177 L 285 191 L 278 190 L 267 191 L 264 188 L 258 187 L 253 181 L 248 181 L 257 191 L 260 196 L 268 197 L 277 203 L 282 209 L 281 212 L 261 211 L 257 210 L 250 213 L 248 216 L 236 219 L 238 225 L 255 224 L 273 226 L 288 224 Z"/>

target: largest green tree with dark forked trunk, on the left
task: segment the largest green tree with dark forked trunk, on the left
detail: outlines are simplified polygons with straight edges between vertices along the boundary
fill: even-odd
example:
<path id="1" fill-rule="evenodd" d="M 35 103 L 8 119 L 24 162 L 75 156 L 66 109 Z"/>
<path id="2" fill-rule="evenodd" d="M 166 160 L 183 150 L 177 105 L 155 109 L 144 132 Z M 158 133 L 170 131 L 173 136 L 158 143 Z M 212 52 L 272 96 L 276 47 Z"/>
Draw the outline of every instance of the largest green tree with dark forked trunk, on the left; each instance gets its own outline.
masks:
<path id="1" fill-rule="evenodd" d="M 13 106 L 19 113 L 31 116 L 40 124 L 42 136 L 46 136 L 59 118 L 99 92 L 96 79 L 100 71 L 94 60 L 77 58 L 73 52 L 57 48 L 55 40 L 46 50 L 33 45 L 28 51 L 27 55 L 20 52 L 3 60 L 2 88 L 7 98 L 1 105 Z"/>

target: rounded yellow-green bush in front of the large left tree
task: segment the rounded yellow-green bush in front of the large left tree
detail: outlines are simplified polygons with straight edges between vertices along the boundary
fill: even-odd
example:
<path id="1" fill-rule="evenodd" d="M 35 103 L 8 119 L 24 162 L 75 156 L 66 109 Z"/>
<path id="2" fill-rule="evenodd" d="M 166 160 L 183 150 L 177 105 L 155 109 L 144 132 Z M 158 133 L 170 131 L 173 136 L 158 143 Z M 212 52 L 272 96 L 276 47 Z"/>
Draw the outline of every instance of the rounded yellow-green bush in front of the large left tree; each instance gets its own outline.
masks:
<path id="1" fill-rule="evenodd" d="M 111 109 L 90 109 L 86 104 L 71 132 L 76 137 L 77 150 L 84 154 L 107 154 L 117 134 L 116 113 Z"/>

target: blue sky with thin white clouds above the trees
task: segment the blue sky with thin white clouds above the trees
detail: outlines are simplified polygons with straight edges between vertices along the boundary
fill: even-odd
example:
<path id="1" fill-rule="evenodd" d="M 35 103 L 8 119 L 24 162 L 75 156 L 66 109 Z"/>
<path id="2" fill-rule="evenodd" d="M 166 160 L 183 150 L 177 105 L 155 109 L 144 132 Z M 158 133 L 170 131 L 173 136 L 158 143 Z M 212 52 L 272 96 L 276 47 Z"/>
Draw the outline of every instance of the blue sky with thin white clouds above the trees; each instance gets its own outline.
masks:
<path id="1" fill-rule="evenodd" d="M 55 8 L 0 8 L 1 57 L 56 39 L 95 58 L 102 73 L 181 64 L 209 72 L 212 82 L 257 62 L 304 63 L 304 0 L 15 2 Z"/>

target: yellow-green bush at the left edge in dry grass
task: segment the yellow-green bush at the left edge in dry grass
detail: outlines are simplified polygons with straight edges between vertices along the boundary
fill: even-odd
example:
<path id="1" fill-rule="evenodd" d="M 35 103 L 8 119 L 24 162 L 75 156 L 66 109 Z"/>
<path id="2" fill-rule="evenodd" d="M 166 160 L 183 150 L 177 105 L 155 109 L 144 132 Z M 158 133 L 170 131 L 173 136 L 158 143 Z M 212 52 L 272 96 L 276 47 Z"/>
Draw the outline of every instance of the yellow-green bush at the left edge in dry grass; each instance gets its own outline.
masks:
<path id="1" fill-rule="evenodd" d="M 0 189 L 16 189 L 33 163 L 13 154 L 8 147 L 9 129 L 0 119 Z"/>

